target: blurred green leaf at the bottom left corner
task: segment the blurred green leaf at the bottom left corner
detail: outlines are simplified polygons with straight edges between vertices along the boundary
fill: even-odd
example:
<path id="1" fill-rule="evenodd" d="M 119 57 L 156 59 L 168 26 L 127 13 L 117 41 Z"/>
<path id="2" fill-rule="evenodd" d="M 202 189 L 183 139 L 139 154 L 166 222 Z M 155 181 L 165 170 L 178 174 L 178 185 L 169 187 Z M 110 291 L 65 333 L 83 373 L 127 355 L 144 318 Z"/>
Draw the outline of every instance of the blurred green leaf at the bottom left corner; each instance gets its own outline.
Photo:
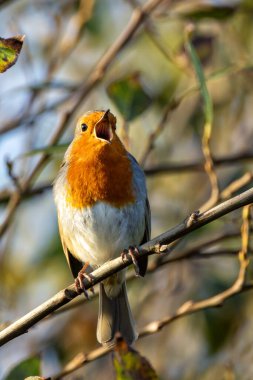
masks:
<path id="1" fill-rule="evenodd" d="M 40 359 L 38 356 L 26 359 L 14 367 L 5 380 L 25 379 L 29 376 L 40 375 Z"/>

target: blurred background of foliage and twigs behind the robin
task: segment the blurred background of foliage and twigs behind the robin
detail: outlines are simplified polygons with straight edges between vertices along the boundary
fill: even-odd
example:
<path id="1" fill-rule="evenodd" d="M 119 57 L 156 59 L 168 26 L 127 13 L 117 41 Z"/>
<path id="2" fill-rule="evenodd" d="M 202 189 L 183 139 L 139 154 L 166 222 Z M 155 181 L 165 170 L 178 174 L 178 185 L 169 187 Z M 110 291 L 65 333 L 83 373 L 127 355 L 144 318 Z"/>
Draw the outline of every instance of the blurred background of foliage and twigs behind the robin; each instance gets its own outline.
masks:
<path id="1" fill-rule="evenodd" d="M 203 100 L 185 49 L 189 23 L 195 28 L 192 45 L 214 107 L 210 146 L 220 195 L 245 174 L 247 180 L 235 194 L 252 185 L 251 0 L 161 1 L 112 57 L 88 95 L 83 92 L 59 139 L 47 148 L 65 111 L 92 80 L 97 62 L 125 30 L 138 4 L 145 1 L 0 2 L 0 36 L 26 35 L 17 63 L 1 75 L 0 222 L 6 220 L 11 194 L 26 181 L 41 154 L 48 154 L 1 236 L 1 329 L 73 282 L 59 240 L 51 184 L 83 112 L 110 108 L 117 116 L 122 140 L 146 169 L 152 237 L 209 199 Z M 213 205 L 225 198 L 220 196 Z M 139 329 L 173 314 L 189 299 L 204 299 L 231 286 L 238 273 L 240 226 L 239 210 L 190 234 L 171 254 L 177 257 L 195 246 L 199 252 L 209 241 L 202 253 L 213 257 L 188 257 L 129 282 Z M 155 260 L 151 257 L 150 263 Z M 251 272 L 249 268 L 249 276 Z M 98 347 L 97 307 L 97 299 L 86 302 L 3 346 L 0 378 L 34 356 L 43 376 L 54 375 L 79 352 Z M 252 313 L 251 292 L 244 292 L 222 308 L 175 321 L 139 340 L 136 348 L 161 379 L 252 379 Z M 66 379 L 111 379 L 113 371 L 107 355 Z"/>

